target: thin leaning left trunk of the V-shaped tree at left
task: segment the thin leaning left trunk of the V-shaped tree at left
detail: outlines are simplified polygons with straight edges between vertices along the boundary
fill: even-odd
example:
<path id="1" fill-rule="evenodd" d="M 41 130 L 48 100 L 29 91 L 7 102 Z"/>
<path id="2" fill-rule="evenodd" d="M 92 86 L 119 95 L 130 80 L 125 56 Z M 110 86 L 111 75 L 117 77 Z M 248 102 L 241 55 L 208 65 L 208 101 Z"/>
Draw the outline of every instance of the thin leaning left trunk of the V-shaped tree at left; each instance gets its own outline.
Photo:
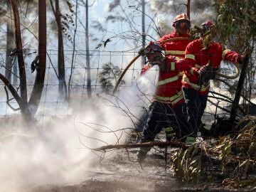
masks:
<path id="1" fill-rule="evenodd" d="M 21 89 L 21 114 L 25 116 L 31 116 L 28 110 L 28 95 L 26 88 L 26 70 L 23 58 L 22 41 L 21 41 L 21 23 L 18 14 L 18 4 L 16 0 L 9 0 L 11 2 L 11 8 L 14 13 L 14 26 L 15 26 L 15 40 L 16 40 L 16 54 L 18 58 L 18 71 L 20 75 L 20 89 Z"/>

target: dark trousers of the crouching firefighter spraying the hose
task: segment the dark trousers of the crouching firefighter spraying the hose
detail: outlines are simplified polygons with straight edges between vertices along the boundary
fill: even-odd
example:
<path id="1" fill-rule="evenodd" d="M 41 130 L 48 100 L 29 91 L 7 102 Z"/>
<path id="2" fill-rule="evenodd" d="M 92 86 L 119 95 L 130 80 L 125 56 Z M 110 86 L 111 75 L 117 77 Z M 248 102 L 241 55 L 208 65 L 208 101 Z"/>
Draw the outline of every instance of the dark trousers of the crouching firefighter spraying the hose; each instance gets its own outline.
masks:
<path id="1" fill-rule="evenodd" d="M 183 137 L 183 130 L 188 126 L 182 113 L 183 105 L 171 107 L 162 102 L 153 102 L 149 108 L 149 117 L 143 129 L 142 141 L 153 141 L 162 128 L 171 127 L 176 137 Z"/>

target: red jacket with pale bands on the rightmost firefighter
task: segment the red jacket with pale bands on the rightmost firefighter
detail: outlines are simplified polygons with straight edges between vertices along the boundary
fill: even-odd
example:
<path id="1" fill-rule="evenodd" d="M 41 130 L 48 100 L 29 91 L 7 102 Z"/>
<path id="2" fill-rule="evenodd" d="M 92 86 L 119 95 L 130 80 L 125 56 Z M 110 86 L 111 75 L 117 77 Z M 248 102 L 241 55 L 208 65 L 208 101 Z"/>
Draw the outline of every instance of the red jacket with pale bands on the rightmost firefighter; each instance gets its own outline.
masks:
<path id="1" fill-rule="evenodd" d="M 183 70 L 184 66 L 189 66 L 190 70 L 186 70 L 183 74 L 182 84 L 184 87 L 192 87 L 198 90 L 201 95 L 205 95 L 209 91 L 208 86 L 198 85 L 198 71 L 203 65 L 206 65 L 210 60 L 213 68 L 218 68 L 221 60 L 230 62 L 240 61 L 240 55 L 231 50 L 225 49 L 220 43 L 213 42 L 209 48 L 202 47 L 202 39 L 197 39 L 188 44 L 185 51 L 184 60 L 176 60 L 172 67 L 174 70 Z"/>

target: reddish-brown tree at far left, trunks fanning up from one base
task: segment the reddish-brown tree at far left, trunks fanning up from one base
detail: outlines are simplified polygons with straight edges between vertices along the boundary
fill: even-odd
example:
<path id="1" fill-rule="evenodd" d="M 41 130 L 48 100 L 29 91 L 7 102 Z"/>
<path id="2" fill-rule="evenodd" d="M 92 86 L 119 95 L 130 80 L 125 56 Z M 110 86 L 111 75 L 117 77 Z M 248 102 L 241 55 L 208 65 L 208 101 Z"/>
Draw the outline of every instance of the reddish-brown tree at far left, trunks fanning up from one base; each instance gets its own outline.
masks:
<path id="1" fill-rule="evenodd" d="M 18 70 L 19 70 L 19 80 L 20 80 L 20 92 L 18 95 L 16 88 L 11 85 L 11 82 L 4 75 L 0 74 L 0 79 L 4 82 L 4 85 L 9 89 L 14 99 L 19 105 L 19 108 L 15 109 L 11 107 L 9 101 L 9 95 L 6 90 L 7 105 L 13 110 L 21 110 L 21 114 L 24 117 L 30 119 L 32 114 L 36 113 L 38 109 L 39 101 L 41 99 L 41 93 L 43 91 L 44 75 L 46 71 L 46 1 L 38 0 L 38 18 L 39 18 L 39 44 L 38 44 L 38 60 L 39 63 L 36 65 L 36 80 L 33 87 L 33 91 L 28 102 L 27 87 L 26 87 L 26 70 L 23 58 L 23 46 L 21 41 L 21 23 L 20 16 L 18 12 L 18 4 L 15 0 L 9 0 L 11 3 L 11 8 L 14 13 L 14 26 L 15 26 L 15 40 L 16 49 L 13 51 L 18 58 Z"/>

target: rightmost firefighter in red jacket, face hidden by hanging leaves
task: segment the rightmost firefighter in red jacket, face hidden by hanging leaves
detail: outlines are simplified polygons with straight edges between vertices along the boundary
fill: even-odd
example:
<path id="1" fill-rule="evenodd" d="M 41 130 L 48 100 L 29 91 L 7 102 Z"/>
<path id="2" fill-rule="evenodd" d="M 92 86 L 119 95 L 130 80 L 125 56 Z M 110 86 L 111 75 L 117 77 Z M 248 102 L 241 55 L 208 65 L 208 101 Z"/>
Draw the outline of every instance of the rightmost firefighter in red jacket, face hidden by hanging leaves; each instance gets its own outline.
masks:
<path id="1" fill-rule="evenodd" d="M 220 43 L 213 41 L 215 23 L 207 21 L 201 24 L 201 38 L 188 44 L 184 60 L 176 60 L 174 66 L 187 65 L 182 78 L 182 91 L 185 99 L 187 121 L 190 125 L 188 139 L 196 142 L 196 134 L 201 126 L 201 117 L 206 109 L 210 88 L 209 80 L 215 78 L 221 60 L 242 63 L 243 55 L 225 49 Z M 174 68 L 174 70 L 178 70 Z"/>

